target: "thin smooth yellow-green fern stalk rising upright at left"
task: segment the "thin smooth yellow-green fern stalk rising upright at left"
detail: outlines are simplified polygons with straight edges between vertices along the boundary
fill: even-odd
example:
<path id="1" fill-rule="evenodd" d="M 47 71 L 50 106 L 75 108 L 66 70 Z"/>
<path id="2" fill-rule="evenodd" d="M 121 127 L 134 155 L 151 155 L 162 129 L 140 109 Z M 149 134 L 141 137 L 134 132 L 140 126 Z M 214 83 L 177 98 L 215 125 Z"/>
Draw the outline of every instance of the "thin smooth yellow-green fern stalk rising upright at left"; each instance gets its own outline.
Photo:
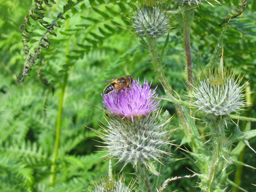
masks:
<path id="1" fill-rule="evenodd" d="M 66 28 L 69 28 L 69 19 L 66 21 Z M 69 55 L 69 43 L 66 44 L 66 55 Z M 68 61 L 68 59 L 66 59 Z M 64 95 L 65 90 L 67 89 L 67 82 L 68 82 L 68 71 L 66 71 L 63 83 L 61 84 L 61 91 L 60 91 L 60 100 L 59 100 L 59 108 L 58 108 L 58 117 L 57 117 L 57 125 L 56 125 L 56 135 L 55 135 L 55 144 L 54 144 L 54 151 L 52 155 L 52 166 L 51 166 L 51 186 L 54 186 L 55 179 L 56 179 L 56 159 L 58 156 L 58 149 L 60 144 L 60 129 L 61 129 L 61 122 L 62 122 L 62 111 L 64 105 Z"/>

